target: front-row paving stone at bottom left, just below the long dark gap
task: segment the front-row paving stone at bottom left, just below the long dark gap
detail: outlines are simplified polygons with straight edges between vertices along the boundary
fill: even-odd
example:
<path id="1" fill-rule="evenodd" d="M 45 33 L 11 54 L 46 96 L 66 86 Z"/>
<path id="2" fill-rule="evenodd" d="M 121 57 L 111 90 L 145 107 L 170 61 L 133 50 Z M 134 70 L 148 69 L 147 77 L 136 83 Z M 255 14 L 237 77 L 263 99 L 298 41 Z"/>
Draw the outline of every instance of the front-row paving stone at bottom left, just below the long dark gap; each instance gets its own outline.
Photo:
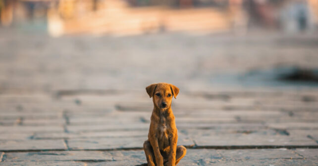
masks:
<path id="1" fill-rule="evenodd" d="M 112 156 L 101 151 L 47 151 L 5 153 L 4 162 L 47 162 L 47 161 L 112 161 Z"/>

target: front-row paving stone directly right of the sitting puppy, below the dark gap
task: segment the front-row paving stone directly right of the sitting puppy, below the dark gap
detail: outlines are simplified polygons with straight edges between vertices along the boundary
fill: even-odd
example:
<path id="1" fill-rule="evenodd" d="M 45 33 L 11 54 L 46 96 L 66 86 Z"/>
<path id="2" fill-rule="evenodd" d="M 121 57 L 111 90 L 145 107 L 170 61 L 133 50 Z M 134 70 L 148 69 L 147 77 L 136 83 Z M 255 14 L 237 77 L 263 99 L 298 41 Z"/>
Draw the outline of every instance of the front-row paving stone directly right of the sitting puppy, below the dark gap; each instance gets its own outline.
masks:
<path id="1" fill-rule="evenodd" d="M 310 166 L 312 161 L 303 160 L 288 149 L 212 150 L 188 149 L 180 161 L 181 166 Z"/>

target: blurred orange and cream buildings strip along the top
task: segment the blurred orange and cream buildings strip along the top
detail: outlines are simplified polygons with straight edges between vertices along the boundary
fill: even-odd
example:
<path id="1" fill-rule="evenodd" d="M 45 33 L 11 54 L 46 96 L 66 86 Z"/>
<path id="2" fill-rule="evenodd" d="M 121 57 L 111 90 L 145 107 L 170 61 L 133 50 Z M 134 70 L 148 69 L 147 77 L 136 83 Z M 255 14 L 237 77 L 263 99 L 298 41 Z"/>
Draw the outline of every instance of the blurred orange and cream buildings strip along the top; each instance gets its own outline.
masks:
<path id="1" fill-rule="evenodd" d="M 44 18 L 48 32 L 144 34 L 244 33 L 248 27 L 314 30 L 318 0 L 0 0 L 2 26 Z"/>

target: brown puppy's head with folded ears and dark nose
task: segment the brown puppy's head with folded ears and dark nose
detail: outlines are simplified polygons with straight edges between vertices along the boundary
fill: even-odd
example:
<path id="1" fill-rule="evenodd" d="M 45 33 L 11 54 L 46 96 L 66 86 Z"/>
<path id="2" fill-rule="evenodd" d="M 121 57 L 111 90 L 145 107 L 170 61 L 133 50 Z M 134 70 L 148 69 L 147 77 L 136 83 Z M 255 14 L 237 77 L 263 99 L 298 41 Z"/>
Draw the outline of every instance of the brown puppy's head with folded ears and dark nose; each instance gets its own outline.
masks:
<path id="1" fill-rule="evenodd" d="M 171 106 L 172 96 L 177 97 L 179 88 L 170 83 L 153 83 L 146 87 L 149 97 L 153 97 L 155 107 L 167 109 Z"/>

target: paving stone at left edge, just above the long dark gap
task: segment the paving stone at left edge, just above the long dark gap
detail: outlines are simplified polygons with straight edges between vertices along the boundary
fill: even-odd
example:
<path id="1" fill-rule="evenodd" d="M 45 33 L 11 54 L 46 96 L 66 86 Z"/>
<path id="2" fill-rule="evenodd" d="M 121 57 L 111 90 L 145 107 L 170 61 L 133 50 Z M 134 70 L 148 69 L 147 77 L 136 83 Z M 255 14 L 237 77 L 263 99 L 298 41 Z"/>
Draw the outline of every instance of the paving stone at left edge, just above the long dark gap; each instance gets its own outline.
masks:
<path id="1" fill-rule="evenodd" d="M 66 149 L 63 140 L 0 140 L 0 151 Z"/>

